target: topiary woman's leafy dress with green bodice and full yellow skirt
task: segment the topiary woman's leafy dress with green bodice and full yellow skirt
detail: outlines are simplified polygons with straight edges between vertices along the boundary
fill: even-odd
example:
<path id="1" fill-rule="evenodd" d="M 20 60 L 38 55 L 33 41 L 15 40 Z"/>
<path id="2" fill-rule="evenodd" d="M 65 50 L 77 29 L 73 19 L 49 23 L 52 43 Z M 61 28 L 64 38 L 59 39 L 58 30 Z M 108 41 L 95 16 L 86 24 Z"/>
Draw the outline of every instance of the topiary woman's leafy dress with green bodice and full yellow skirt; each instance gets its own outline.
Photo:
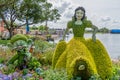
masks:
<path id="1" fill-rule="evenodd" d="M 53 54 L 53 69 L 65 69 L 69 78 L 81 77 L 88 80 L 91 76 L 99 74 L 102 80 L 109 79 L 112 73 L 110 57 L 103 44 L 92 39 L 85 40 L 85 28 L 92 27 L 92 23 L 86 19 L 81 25 L 75 21 L 69 21 L 67 28 L 73 29 L 74 37 L 66 43 L 60 41 Z M 79 65 L 85 65 L 84 70 L 79 70 Z"/>

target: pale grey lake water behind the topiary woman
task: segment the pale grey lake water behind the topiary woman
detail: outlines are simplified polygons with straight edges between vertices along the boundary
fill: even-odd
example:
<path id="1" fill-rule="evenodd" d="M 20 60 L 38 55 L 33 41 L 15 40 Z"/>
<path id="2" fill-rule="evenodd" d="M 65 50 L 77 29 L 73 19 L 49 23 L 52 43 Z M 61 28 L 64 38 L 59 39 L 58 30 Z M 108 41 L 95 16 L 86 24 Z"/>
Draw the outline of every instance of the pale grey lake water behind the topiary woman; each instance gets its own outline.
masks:
<path id="1" fill-rule="evenodd" d="M 84 36 L 85 38 L 91 38 L 92 34 L 85 34 Z M 72 34 L 68 35 L 66 41 L 68 42 L 72 37 Z M 120 57 L 120 34 L 96 34 L 96 38 L 103 43 L 112 59 Z M 59 40 L 56 40 L 56 42 Z"/>

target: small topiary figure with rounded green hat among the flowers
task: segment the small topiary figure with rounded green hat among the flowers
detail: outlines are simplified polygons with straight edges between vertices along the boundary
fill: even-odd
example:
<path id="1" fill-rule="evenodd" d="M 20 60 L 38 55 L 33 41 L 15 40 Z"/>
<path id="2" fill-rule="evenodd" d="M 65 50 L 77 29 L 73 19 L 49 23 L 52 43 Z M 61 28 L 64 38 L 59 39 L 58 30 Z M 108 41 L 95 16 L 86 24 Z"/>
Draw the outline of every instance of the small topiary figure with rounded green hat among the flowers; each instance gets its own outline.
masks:
<path id="1" fill-rule="evenodd" d="M 32 45 L 32 40 L 27 39 L 25 35 L 17 34 L 11 38 L 10 42 L 17 53 L 7 62 L 8 65 L 15 64 L 20 70 L 40 66 L 40 63 L 31 56 L 28 49 Z M 36 63 L 37 65 L 35 65 Z"/>

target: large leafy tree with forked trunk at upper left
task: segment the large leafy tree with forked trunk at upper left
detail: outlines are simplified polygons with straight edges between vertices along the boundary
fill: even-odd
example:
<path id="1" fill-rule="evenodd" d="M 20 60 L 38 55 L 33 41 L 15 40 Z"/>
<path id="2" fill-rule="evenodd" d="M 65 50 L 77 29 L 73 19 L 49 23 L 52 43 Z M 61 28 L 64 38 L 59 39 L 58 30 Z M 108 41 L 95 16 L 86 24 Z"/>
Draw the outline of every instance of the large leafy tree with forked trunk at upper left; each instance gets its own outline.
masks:
<path id="1" fill-rule="evenodd" d="M 47 23 L 47 21 L 58 20 L 60 17 L 58 10 L 51 9 L 52 4 L 47 3 L 46 0 L 0 0 L 0 3 L 4 4 L 3 7 L 0 7 L 0 18 L 10 32 L 10 37 L 13 36 L 16 28 L 44 21 Z"/>

